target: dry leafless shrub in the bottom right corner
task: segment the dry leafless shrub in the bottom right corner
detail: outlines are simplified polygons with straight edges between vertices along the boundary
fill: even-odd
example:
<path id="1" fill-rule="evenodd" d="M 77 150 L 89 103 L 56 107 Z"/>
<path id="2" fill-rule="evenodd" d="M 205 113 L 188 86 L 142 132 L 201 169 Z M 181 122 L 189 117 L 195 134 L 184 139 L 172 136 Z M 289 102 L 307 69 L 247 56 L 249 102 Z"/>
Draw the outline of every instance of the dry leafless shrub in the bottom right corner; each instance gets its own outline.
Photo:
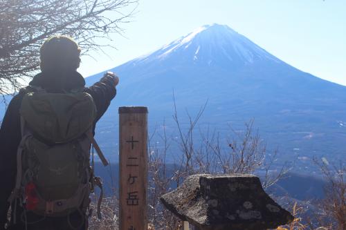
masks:
<path id="1" fill-rule="evenodd" d="M 288 204 L 287 208 L 295 216 L 291 224 L 277 228 L 277 230 L 344 230 L 346 229 L 346 168 L 343 162 L 337 166 L 326 160 L 314 159 L 322 176 L 326 180 L 325 198 L 316 200 L 313 204 L 316 210 L 309 210 L 302 205 Z M 296 184 L 295 186 L 299 186 Z"/>

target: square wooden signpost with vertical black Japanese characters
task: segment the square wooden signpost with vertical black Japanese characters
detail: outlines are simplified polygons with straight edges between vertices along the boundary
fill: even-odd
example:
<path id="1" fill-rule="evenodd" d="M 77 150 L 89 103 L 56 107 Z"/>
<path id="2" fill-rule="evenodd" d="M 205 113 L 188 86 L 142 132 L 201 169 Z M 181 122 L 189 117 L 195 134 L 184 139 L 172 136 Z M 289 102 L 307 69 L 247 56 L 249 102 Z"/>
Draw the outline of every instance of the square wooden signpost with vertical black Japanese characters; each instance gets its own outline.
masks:
<path id="1" fill-rule="evenodd" d="M 147 107 L 119 108 L 120 228 L 147 230 Z"/>

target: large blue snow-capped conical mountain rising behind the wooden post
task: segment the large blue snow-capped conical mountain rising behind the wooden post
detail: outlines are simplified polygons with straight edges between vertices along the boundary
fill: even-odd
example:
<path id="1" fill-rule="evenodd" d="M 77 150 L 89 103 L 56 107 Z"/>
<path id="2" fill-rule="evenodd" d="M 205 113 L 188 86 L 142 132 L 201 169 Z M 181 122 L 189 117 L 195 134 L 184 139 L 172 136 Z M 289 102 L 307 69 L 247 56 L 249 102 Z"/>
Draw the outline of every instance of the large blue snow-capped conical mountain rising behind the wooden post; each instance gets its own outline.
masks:
<path id="1" fill-rule="evenodd" d="M 280 162 L 297 162 L 298 171 L 311 173 L 313 156 L 345 160 L 346 87 L 286 64 L 228 26 L 202 26 L 111 71 L 120 77 L 118 95 L 97 136 L 109 156 L 117 158 L 109 140 L 117 140 L 118 106 L 148 106 L 150 127 L 166 119 L 174 133 L 174 94 L 183 123 L 185 110 L 194 114 L 208 101 L 201 125 L 225 138 L 230 126 L 239 130 L 255 119 Z"/>

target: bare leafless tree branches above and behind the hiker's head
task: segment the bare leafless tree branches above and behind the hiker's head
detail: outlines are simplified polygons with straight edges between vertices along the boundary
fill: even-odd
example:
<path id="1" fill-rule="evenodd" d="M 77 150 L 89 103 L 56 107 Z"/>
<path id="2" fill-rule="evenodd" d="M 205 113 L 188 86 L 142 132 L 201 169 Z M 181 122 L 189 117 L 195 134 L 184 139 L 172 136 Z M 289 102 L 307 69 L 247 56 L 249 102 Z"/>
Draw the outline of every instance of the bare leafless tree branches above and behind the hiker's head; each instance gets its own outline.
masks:
<path id="1" fill-rule="evenodd" d="M 0 93 L 17 90 L 39 68 L 39 47 L 53 35 L 70 35 L 82 50 L 113 46 L 137 0 L 0 1 Z M 96 42 L 97 40 L 97 42 Z"/>

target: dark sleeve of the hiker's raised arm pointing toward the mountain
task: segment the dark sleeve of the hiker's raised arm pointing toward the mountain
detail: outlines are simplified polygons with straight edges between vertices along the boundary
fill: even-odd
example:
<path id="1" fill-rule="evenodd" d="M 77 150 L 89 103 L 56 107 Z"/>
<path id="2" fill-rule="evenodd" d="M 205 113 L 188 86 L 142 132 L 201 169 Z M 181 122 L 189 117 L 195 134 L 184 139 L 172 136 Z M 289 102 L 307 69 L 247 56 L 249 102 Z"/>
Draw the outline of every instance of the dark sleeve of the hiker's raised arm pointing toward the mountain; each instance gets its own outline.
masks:
<path id="1" fill-rule="evenodd" d="M 95 124 L 102 117 L 104 112 L 107 111 L 111 99 L 116 96 L 116 84 L 114 83 L 114 77 L 111 75 L 105 75 L 99 82 L 93 84 L 89 88 L 85 88 L 84 91 L 89 93 L 93 97 L 95 102 L 97 116 L 94 122 L 93 129 L 95 130 Z"/>

